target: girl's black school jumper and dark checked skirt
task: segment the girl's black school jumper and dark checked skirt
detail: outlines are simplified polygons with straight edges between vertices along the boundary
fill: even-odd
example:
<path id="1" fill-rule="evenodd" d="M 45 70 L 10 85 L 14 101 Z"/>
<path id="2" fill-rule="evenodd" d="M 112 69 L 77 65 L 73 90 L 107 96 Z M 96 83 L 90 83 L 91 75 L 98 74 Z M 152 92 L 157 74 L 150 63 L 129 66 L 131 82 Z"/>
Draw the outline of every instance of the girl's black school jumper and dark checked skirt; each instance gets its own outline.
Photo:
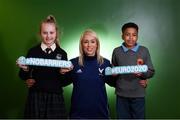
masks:
<path id="1" fill-rule="evenodd" d="M 50 54 L 45 53 L 41 44 L 28 51 L 27 58 L 67 60 L 67 54 L 58 45 Z M 66 85 L 60 68 L 29 66 L 29 71 L 20 69 L 19 76 L 23 80 L 34 79 L 35 84 L 29 88 L 25 106 L 25 118 L 67 118 L 64 105 L 63 89 Z"/>

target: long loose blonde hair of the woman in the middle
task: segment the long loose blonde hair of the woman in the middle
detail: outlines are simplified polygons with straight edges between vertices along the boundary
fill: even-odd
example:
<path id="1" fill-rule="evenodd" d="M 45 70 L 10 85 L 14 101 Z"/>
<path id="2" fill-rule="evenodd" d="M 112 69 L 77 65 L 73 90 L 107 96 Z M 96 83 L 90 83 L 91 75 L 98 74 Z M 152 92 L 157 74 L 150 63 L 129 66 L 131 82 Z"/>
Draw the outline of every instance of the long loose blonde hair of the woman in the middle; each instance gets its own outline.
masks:
<path id="1" fill-rule="evenodd" d="M 84 31 L 84 33 L 81 35 L 80 38 L 80 42 L 79 42 L 79 65 L 80 66 L 84 66 L 84 51 L 83 51 L 83 47 L 82 47 L 82 43 L 83 43 L 83 39 L 85 37 L 85 35 L 90 35 L 95 37 L 96 39 L 96 43 L 97 43 L 97 49 L 96 49 L 96 56 L 97 56 L 97 61 L 100 65 L 102 65 L 104 63 L 103 57 L 100 55 L 100 42 L 99 42 L 99 38 L 96 34 L 96 32 L 94 32 L 91 29 L 87 29 Z"/>

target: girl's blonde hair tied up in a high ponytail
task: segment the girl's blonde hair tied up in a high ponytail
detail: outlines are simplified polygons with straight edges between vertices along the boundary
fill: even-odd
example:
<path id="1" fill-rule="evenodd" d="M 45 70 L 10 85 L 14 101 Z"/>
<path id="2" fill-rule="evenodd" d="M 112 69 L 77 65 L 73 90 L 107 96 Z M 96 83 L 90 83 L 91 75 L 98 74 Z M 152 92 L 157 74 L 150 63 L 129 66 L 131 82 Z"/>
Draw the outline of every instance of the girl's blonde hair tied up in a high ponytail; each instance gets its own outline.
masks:
<path id="1" fill-rule="evenodd" d="M 56 40 L 55 43 L 59 46 L 59 28 L 56 22 L 56 19 L 53 15 L 48 15 L 44 20 L 42 20 L 41 24 L 40 24 L 40 33 L 41 33 L 41 27 L 43 23 L 49 23 L 49 24 L 54 24 L 55 28 L 56 28 Z"/>

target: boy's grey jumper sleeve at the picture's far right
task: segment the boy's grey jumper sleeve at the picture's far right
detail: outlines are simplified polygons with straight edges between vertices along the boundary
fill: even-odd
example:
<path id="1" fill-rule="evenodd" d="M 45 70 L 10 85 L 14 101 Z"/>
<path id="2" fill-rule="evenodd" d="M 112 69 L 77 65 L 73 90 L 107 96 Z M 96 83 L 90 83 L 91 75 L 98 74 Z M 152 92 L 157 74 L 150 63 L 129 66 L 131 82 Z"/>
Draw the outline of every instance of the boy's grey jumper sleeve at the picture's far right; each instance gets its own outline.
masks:
<path id="1" fill-rule="evenodd" d="M 144 64 L 148 66 L 148 71 L 146 73 L 143 73 L 139 78 L 140 79 L 149 79 L 149 78 L 152 78 L 155 74 L 155 69 L 153 67 L 153 64 L 152 64 L 152 61 L 151 61 L 151 56 L 150 56 L 150 53 L 149 53 L 149 50 L 146 49 L 146 58 L 145 58 L 145 62 Z"/>

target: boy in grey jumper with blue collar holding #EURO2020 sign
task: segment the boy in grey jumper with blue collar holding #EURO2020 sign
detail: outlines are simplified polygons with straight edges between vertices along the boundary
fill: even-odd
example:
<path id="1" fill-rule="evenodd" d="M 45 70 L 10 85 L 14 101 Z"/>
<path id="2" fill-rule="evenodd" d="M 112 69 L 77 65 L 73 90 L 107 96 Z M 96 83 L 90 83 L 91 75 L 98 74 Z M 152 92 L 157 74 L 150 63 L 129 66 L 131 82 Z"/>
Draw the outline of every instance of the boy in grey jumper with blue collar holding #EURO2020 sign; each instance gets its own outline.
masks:
<path id="1" fill-rule="evenodd" d="M 146 73 L 122 74 L 117 76 L 117 115 L 119 119 L 145 117 L 145 87 L 146 79 L 154 75 L 149 51 L 137 43 L 138 26 L 126 23 L 122 27 L 124 43 L 113 51 L 112 64 L 114 66 L 142 65 L 148 66 Z"/>

